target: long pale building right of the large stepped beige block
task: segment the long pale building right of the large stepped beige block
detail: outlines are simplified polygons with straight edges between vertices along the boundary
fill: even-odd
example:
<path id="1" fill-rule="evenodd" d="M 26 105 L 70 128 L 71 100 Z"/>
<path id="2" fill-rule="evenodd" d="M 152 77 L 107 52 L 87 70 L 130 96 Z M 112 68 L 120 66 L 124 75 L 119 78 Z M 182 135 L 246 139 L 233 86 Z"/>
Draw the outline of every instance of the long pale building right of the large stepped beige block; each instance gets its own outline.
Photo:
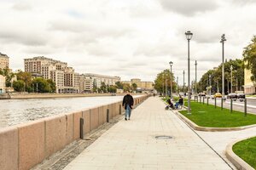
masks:
<path id="1" fill-rule="evenodd" d="M 85 73 L 80 75 L 79 82 L 80 92 L 92 92 L 93 88 L 101 88 L 102 82 L 104 82 L 106 85 L 111 86 L 115 85 L 115 82 L 120 82 L 120 77 L 110 77 L 105 75 L 99 75 L 99 74 L 92 74 L 92 73 Z"/>

